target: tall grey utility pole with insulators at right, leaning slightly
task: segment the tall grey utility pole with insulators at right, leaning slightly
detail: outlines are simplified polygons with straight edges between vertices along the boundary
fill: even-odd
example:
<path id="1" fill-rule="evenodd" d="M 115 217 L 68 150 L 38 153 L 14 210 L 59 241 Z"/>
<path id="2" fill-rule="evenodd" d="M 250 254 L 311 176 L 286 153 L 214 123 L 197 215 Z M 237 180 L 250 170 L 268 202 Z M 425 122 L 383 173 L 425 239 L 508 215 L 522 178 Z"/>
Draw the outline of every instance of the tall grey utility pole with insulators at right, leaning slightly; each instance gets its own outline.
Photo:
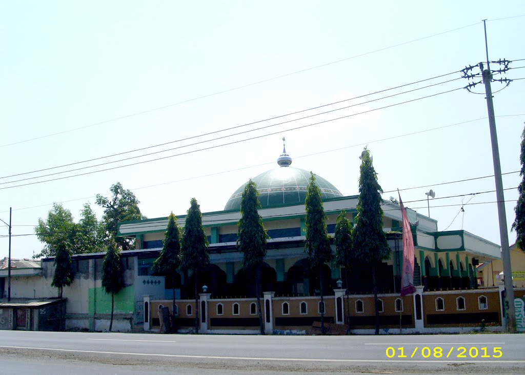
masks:
<path id="1" fill-rule="evenodd" d="M 475 79 L 476 77 L 479 77 L 480 73 L 474 73 L 472 72 L 469 74 L 469 72 L 472 71 L 472 69 L 479 67 L 479 70 L 481 70 L 481 77 L 482 82 L 485 85 L 485 96 L 487 99 L 487 111 L 488 111 L 488 118 L 489 118 L 489 129 L 490 129 L 490 141 L 492 144 L 492 161 L 494 164 L 494 179 L 496 180 L 496 197 L 497 197 L 497 203 L 498 203 L 498 219 L 499 219 L 499 236 L 501 241 L 501 260 L 503 263 L 503 275 L 504 275 L 504 282 L 505 282 L 505 302 L 504 302 L 504 311 L 505 311 L 505 318 L 507 322 L 507 331 L 509 333 L 515 333 L 516 332 L 516 311 L 514 311 L 514 290 L 512 287 L 512 269 L 510 265 L 510 252 L 509 252 L 509 235 L 507 231 L 507 215 L 505 212 L 505 196 L 503 195 L 503 182 L 501 179 L 501 163 L 499 160 L 499 147 L 498 147 L 498 134 L 496 132 L 496 117 L 494 114 L 494 103 L 492 102 L 492 88 L 490 86 L 492 81 L 498 81 L 501 84 L 506 84 L 505 87 L 509 86 L 511 79 L 508 78 L 500 78 L 497 80 L 492 79 L 492 70 L 490 70 L 489 63 L 498 64 L 499 69 L 494 70 L 495 72 L 499 74 L 504 74 L 509 69 L 509 64 L 512 63 L 512 61 L 509 60 L 498 60 L 498 61 L 489 61 L 489 53 L 488 53 L 488 46 L 487 46 L 487 26 L 485 24 L 485 20 L 483 20 L 484 24 L 484 30 L 485 30 L 485 52 L 487 56 L 487 69 L 484 69 L 483 63 L 479 63 L 478 65 L 465 67 L 463 69 L 463 78 L 467 79 Z M 476 85 L 480 84 L 481 81 L 478 82 L 472 82 L 469 83 L 468 86 L 465 87 L 469 92 L 471 91 L 471 88 L 474 88 Z M 504 87 L 504 88 L 505 88 Z"/>

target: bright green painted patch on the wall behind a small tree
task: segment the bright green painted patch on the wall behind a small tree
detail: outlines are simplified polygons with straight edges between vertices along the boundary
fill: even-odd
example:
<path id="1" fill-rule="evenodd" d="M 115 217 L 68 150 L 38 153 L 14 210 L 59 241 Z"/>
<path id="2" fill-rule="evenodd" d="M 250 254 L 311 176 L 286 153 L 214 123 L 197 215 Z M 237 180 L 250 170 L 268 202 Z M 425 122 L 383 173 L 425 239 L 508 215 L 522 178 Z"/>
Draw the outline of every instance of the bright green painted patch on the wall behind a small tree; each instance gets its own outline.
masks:
<path id="1" fill-rule="evenodd" d="M 96 299 L 95 299 L 96 296 Z M 111 314 L 111 294 L 103 288 L 89 288 L 89 315 Z M 115 295 L 114 313 L 132 314 L 135 311 L 135 288 L 128 286 Z"/>

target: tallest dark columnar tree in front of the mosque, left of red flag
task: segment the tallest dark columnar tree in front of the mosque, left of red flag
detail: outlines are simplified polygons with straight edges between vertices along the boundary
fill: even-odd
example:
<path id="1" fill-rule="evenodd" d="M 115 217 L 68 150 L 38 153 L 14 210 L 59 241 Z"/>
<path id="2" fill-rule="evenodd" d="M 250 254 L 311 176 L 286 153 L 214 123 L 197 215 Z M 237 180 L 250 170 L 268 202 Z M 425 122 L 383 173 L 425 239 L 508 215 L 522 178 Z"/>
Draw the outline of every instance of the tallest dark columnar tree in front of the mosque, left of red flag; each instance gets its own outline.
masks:
<path id="1" fill-rule="evenodd" d="M 377 266 L 390 257 L 390 247 L 383 232 L 383 189 L 377 182 L 377 173 L 372 165 L 370 151 L 362 155 L 359 176 L 358 214 L 353 231 L 353 249 L 362 264 L 372 267 L 372 285 L 375 301 L 375 334 L 379 334 L 379 306 L 377 301 Z"/>

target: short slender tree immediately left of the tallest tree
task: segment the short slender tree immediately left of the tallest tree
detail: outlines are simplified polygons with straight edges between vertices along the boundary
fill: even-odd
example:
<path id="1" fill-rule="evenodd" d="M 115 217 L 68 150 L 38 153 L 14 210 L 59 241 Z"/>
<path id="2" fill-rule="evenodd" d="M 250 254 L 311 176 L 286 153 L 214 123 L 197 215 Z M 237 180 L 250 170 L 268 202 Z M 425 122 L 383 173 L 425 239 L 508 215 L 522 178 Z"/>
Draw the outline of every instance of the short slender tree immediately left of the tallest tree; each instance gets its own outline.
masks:
<path id="1" fill-rule="evenodd" d="M 350 329 L 350 306 L 348 302 L 348 293 L 350 290 L 350 270 L 356 263 L 355 254 L 352 247 L 352 223 L 346 218 L 346 212 L 343 210 L 337 217 L 335 224 L 335 263 L 344 267 L 346 277 L 346 324 Z"/>

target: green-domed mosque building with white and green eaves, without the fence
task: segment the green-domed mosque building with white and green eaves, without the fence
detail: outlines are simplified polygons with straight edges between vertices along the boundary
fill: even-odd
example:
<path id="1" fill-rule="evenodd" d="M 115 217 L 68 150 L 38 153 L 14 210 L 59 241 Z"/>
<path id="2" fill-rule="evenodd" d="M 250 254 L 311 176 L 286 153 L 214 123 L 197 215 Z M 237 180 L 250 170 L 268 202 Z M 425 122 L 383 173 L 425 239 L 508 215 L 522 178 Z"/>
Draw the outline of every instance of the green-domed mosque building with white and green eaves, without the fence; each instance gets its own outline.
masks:
<path id="1" fill-rule="evenodd" d="M 275 291 L 279 296 L 319 295 L 319 280 L 311 273 L 304 253 L 304 200 L 310 172 L 291 166 L 292 158 L 283 147 L 276 168 L 252 179 L 257 185 L 264 225 L 268 231 L 268 253 L 262 270 L 262 289 Z M 327 227 L 335 232 L 335 222 L 342 210 L 351 222 L 356 214 L 358 195 L 343 196 L 328 180 L 316 174 L 321 189 Z M 254 296 L 251 275 L 243 270 L 243 254 L 236 248 L 240 201 L 245 184 L 229 197 L 224 211 L 203 213 L 203 226 L 209 242 L 211 265 L 199 276 L 212 296 Z M 392 256 L 380 266 L 379 289 L 384 293 L 399 291 L 400 252 L 402 251 L 402 216 L 399 205 L 384 201 L 384 231 L 392 248 Z M 499 246 L 466 231 L 438 232 L 437 221 L 413 210 L 407 210 L 413 226 L 416 247 L 415 284 L 427 290 L 476 288 L 476 265 L 499 258 Z M 185 215 L 177 215 L 178 225 L 184 226 Z M 151 275 L 151 266 L 162 248 L 167 218 L 152 218 L 119 224 L 118 235 L 136 239 L 139 275 Z M 333 245 L 332 245 L 333 246 Z M 141 252 L 144 252 L 141 255 Z M 339 279 L 346 287 L 345 273 L 334 264 L 324 265 L 324 294 L 333 295 Z M 193 280 L 180 275 L 176 280 L 178 298 L 193 297 Z M 184 277 L 186 276 L 186 277 Z M 187 281 L 186 281 L 186 280 Z M 172 293 L 166 278 L 166 297 Z M 353 293 L 370 293 L 370 269 L 353 269 L 348 283 Z"/>

